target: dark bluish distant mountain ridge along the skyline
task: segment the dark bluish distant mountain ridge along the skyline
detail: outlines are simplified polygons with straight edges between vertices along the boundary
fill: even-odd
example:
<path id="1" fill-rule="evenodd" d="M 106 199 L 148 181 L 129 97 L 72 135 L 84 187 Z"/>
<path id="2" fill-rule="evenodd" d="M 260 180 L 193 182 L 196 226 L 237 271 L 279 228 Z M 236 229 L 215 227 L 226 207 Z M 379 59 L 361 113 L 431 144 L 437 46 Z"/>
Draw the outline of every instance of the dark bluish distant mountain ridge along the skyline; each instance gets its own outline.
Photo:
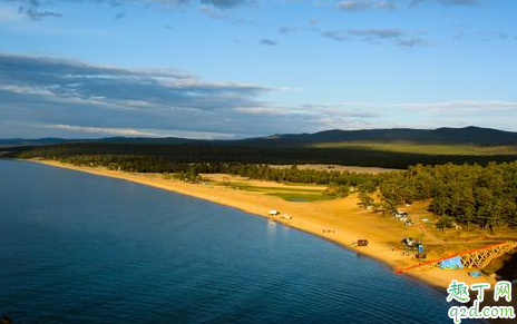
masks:
<path id="1" fill-rule="evenodd" d="M 481 127 L 437 128 L 437 129 L 332 129 L 313 134 L 280 134 L 266 137 L 235 140 L 201 140 L 176 137 L 165 138 L 128 138 L 109 137 L 101 139 L 0 139 L 0 146 L 52 145 L 66 143 L 126 143 L 126 144 L 162 144 L 162 145 L 238 145 L 238 146 L 311 146 L 319 143 L 347 141 L 408 141 L 418 144 L 461 144 L 461 145 L 517 145 L 517 132 Z"/>

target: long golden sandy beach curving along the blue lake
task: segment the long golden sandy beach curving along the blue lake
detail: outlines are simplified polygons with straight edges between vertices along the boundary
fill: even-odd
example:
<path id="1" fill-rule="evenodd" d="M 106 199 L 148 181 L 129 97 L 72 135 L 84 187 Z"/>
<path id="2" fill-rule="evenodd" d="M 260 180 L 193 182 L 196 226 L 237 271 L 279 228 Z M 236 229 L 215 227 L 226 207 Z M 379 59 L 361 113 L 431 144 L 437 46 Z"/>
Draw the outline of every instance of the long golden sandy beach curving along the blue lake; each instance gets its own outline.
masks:
<path id="1" fill-rule="evenodd" d="M 167 178 L 162 174 L 135 174 L 117 170 L 108 170 L 98 167 L 78 167 L 74 165 L 62 164 L 52 160 L 32 160 L 53 167 L 61 167 L 71 170 L 107 176 L 111 178 L 134 181 L 156 188 L 175 192 L 183 195 L 194 196 L 201 199 L 213 202 L 216 204 L 231 206 L 241 210 L 274 219 L 287 226 L 318 235 L 331 242 L 351 248 L 361 255 L 373 257 L 390 266 L 393 272 L 408 265 L 417 264 L 418 262 L 412 256 L 403 255 L 403 248 L 400 239 L 403 237 L 421 237 L 425 236 L 425 244 L 429 246 L 440 245 L 442 242 L 423 233 L 421 227 L 413 226 L 408 228 L 393 220 L 390 217 L 381 217 L 380 214 L 370 213 L 358 207 L 358 198 L 351 195 L 347 198 L 334 200 L 318 200 L 311 203 L 287 202 L 280 197 L 264 195 L 258 192 L 240 190 L 225 186 L 215 186 L 212 183 L 188 184 L 173 178 Z M 262 183 L 262 181 L 251 181 Z M 263 183 L 267 186 L 286 186 L 276 183 Z M 292 187 L 292 185 L 290 185 Z M 306 188 L 308 186 L 303 186 Z M 418 204 L 409 207 L 418 209 Z M 281 215 L 289 215 L 292 218 L 285 219 L 281 216 L 270 216 L 269 210 L 276 209 Z M 410 213 L 413 210 L 409 210 Z M 224 217 L 224 215 L 221 215 Z M 369 245 L 365 247 L 352 247 L 352 242 L 357 239 L 368 239 Z M 466 248 L 469 243 L 465 243 Z M 435 257 L 437 257 L 436 255 Z M 429 253 L 429 258 L 432 258 L 432 253 Z M 445 292 L 452 279 L 466 282 L 468 284 L 476 282 L 495 283 L 492 277 L 482 276 L 472 278 L 468 275 L 468 271 L 440 271 L 430 269 L 426 272 L 414 272 L 409 275 L 420 279 L 433 287 Z"/>

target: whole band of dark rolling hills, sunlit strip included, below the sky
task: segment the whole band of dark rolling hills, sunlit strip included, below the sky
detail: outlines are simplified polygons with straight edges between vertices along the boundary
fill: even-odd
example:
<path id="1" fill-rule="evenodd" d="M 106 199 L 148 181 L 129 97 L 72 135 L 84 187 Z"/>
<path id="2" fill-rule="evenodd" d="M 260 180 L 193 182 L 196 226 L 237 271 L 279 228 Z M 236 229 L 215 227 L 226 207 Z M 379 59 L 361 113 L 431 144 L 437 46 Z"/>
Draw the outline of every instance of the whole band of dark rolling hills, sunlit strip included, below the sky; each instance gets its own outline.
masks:
<path id="1" fill-rule="evenodd" d="M 4 155 L 11 151 L 11 156 L 153 156 L 174 163 L 335 164 L 406 168 L 414 164 L 486 165 L 489 161 L 517 159 L 517 132 L 478 127 L 326 130 L 238 140 L 114 137 L 3 143 L 11 148 L 0 150 Z M 16 148 L 17 143 L 26 146 L 18 145 Z"/>

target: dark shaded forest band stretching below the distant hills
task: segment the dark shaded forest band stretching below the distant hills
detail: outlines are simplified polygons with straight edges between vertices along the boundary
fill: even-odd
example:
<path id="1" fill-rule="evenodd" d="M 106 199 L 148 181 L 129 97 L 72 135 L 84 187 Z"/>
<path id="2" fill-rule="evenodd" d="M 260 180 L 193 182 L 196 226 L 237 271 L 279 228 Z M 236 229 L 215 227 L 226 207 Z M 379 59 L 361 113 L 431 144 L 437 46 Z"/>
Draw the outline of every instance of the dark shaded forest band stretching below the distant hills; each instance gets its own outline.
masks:
<path id="1" fill-rule="evenodd" d="M 14 155 L 62 158 L 81 155 L 145 156 L 174 163 L 336 164 L 406 169 L 410 165 L 479 164 L 513 161 L 515 156 L 446 156 L 388 153 L 352 148 L 237 147 L 218 145 L 147 145 L 77 143 L 18 148 Z"/>

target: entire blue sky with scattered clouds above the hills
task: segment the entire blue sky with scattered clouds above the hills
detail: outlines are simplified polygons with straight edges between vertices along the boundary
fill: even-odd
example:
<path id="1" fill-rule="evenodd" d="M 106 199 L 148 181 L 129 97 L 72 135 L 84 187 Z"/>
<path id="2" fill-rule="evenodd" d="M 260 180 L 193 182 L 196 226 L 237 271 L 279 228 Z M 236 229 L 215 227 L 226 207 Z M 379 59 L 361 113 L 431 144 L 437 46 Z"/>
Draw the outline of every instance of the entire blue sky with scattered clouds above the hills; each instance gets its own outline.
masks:
<path id="1" fill-rule="evenodd" d="M 514 0 L 0 0 L 0 138 L 517 131 Z"/>

